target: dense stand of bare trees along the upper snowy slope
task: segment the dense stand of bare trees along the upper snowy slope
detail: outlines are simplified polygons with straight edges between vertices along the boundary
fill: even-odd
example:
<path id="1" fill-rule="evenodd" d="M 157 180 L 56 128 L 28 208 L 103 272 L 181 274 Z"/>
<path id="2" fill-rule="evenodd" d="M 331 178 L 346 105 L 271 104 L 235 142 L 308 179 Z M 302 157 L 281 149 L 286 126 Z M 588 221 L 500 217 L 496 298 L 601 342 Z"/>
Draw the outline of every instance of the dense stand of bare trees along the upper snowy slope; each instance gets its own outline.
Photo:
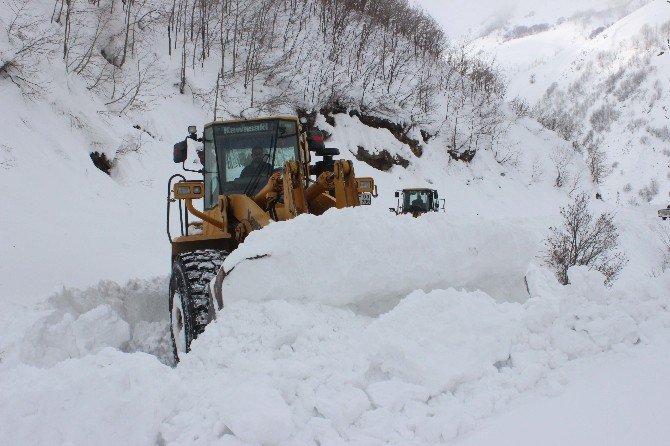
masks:
<path id="1" fill-rule="evenodd" d="M 445 59 L 444 32 L 408 0 L 53 1 L 68 72 L 112 112 L 146 103 L 156 78 L 146 65 L 155 46 L 149 31 L 162 29 L 178 67 L 173 85 L 214 94 L 207 102 L 217 117 L 337 102 L 401 116 L 410 127 L 439 126 L 453 153 L 473 156 L 505 131 L 501 72 L 465 50 Z M 203 69 L 210 57 L 215 75 Z M 196 70 L 199 80 L 191 82 Z"/>

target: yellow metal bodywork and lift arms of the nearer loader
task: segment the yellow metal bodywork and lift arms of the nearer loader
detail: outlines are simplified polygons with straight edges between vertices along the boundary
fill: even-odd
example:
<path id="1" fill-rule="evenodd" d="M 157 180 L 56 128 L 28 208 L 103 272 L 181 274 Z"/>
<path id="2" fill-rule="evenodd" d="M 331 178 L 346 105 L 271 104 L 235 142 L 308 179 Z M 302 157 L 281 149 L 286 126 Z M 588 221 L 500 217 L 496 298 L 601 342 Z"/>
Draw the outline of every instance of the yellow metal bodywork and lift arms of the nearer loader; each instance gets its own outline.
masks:
<path id="1" fill-rule="evenodd" d="M 295 116 L 213 121 L 206 124 L 205 128 L 217 124 L 277 119 L 296 123 L 300 146 L 298 159 L 287 162 L 283 172 L 273 174 L 256 196 L 220 195 L 217 204 L 203 212 L 193 206 L 193 200 L 204 197 L 204 182 L 181 181 L 174 185 L 174 199 L 184 200 L 187 211 L 202 220 L 201 223 L 195 223 L 202 227 L 202 233 L 175 238 L 172 243 L 173 256 L 193 247 L 207 248 L 210 244 L 225 246 L 225 249 L 232 250 L 244 241 L 251 231 L 270 224 L 272 218 L 276 217 L 281 221 L 305 213 L 321 215 L 333 207 L 359 206 L 361 193 L 375 194 L 374 179 L 356 178 L 353 163 L 348 160 L 336 160 L 333 172 L 322 173 L 316 181 L 309 180 L 311 154 L 307 135 L 302 131 L 300 120 Z M 198 187 L 201 188 L 200 193 L 196 193 Z M 283 203 L 278 202 L 280 196 L 283 196 Z M 274 212 L 272 218 L 270 210 Z"/>

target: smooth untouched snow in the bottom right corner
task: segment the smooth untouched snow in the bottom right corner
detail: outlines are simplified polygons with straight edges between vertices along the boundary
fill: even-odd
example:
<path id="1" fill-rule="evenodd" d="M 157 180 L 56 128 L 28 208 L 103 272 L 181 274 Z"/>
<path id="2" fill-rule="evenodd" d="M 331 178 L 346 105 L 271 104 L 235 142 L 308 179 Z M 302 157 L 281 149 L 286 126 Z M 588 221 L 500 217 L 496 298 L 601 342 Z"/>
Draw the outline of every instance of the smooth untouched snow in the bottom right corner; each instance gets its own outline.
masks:
<path id="1" fill-rule="evenodd" d="M 665 344 L 578 361 L 561 371 L 562 392 L 522 398 L 455 444 L 664 445 L 669 372 Z"/>

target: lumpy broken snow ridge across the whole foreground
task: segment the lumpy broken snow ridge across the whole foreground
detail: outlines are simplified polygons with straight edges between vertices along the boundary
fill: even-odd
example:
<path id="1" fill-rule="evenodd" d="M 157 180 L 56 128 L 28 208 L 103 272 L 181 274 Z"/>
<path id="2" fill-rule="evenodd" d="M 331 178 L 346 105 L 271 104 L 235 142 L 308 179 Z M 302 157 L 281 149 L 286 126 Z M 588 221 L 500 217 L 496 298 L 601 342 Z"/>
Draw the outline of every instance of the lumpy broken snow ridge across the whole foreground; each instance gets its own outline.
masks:
<path id="1" fill-rule="evenodd" d="M 5 440 L 83 444 L 436 444 L 577 358 L 670 333 L 667 281 L 611 290 L 531 267 L 532 297 L 415 291 L 389 312 L 237 300 L 176 368 L 110 348 L 49 368 L 0 365 Z M 395 300 L 395 299 L 394 299 Z M 141 404 L 138 404 L 141 401 Z M 35 408 L 39 410 L 35 411 Z"/>

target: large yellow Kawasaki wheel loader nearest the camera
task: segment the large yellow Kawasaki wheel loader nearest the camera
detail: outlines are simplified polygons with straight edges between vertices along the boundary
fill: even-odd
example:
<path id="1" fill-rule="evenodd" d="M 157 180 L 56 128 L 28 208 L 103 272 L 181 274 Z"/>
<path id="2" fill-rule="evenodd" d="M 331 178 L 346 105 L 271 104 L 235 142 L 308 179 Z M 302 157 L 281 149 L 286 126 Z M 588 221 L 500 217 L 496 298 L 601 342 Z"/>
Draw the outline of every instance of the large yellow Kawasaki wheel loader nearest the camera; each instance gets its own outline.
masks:
<path id="1" fill-rule="evenodd" d="M 188 139 L 202 143 L 201 170 L 186 168 Z M 202 137 L 191 126 L 188 137 L 174 145 L 173 155 L 184 170 L 202 175 L 187 180 L 177 174 L 168 182 L 175 362 L 223 308 L 221 265 L 251 231 L 300 214 L 370 204 L 377 196 L 372 178 L 356 178 L 352 162 L 335 160 L 339 150 L 327 148 L 321 132 L 303 130 L 294 116 L 212 122 Z M 312 156 L 320 159 L 312 163 Z M 179 207 L 180 234 L 175 237 L 170 232 L 173 205 Z"/>

